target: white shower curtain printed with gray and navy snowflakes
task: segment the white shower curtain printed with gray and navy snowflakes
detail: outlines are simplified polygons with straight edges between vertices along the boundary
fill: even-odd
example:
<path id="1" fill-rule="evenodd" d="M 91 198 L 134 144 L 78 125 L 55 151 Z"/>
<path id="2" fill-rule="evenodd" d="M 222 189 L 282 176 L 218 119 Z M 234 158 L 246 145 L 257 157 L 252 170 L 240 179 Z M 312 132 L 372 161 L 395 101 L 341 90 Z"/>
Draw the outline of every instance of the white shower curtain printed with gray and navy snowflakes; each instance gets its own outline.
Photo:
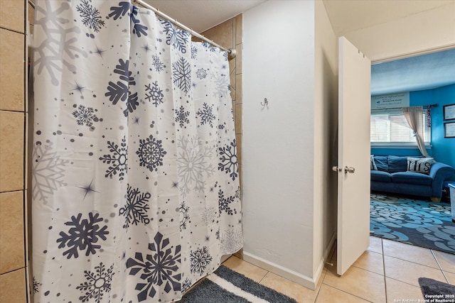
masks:
<path id="1" fill-rule="evenodd" d="M 171 302 L 242 247 L 227 53 L 126 1 L 37 1 L 34 302 Z"/>

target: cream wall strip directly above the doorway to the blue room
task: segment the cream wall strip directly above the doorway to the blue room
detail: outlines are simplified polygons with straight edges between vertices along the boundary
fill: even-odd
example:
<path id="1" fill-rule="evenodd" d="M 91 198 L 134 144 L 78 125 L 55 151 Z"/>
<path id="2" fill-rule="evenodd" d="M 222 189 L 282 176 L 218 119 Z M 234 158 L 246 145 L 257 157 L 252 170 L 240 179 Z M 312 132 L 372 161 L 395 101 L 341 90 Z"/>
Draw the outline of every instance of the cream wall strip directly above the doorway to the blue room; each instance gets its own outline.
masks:
<path id="1" fill-rule="evenodd" d="M 455 2 L 344 35 L 370 60 L 455 47 Z"/>

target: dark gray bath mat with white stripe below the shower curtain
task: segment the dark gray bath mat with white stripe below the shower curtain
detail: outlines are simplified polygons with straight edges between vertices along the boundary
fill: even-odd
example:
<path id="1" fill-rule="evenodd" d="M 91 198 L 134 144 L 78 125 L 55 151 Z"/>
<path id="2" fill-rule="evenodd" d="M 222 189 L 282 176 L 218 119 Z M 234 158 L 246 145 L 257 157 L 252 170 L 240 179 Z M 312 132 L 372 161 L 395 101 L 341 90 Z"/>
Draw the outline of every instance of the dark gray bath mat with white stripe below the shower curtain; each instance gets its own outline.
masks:
<path id="1" fill-rule="evenodd" d="M 178 303 L 297 303 L 281 292 L 221 265 L 183 295 Z"/>

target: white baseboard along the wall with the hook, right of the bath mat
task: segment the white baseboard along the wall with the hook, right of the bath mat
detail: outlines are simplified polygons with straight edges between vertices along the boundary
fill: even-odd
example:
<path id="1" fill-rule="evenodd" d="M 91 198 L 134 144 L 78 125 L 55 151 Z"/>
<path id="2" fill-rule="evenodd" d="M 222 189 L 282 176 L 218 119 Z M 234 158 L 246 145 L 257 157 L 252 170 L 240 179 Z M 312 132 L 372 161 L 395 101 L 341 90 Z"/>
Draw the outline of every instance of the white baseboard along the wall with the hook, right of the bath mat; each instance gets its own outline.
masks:
<path id="1" fill-rule="evenodd" d="M 247 261 L 248 263 L 252 263 L 253 265 L 259 266 L 259 268 L 264 268 L 264 270 L 268 270 L 275 275 L 284 277 L 287 280 L 296 282 L 297 284 L 309 288 L 310 290 L 316 289 L 316 282 L 313 278 L 306 277 L 306 275 L 301 275 L 299 272 L 295 272 L 289 268 L 284 268 L 281 265 L 272 263 L 268 260 L 258 257 L 257 255 L 247 253 L 245 250 L 243 250 L 243 260 Z"/>

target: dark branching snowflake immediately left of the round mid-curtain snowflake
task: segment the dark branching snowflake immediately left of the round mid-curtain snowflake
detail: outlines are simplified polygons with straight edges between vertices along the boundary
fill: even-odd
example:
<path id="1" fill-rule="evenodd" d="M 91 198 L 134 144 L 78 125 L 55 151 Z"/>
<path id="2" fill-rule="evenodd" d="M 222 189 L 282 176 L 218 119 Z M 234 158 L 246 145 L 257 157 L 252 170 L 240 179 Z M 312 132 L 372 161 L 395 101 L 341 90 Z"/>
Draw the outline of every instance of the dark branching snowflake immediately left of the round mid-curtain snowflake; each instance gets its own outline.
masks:
<path id="1" fill-rule="evenodd" d="M 105 177 L 112 179 L 112 177 L 117 175 L 118 172 L 119 180 L 122 181 L 124 179 L 125 172 L 128 171 L 127 139 L 124 136 L 120 145 L 107 141 L 107 147 L 112 155 L 106 154 L 99 158 L 99 160 L 102 160 L 103 163 L 109 165 L 109 167 L 107 167 Z"/>

